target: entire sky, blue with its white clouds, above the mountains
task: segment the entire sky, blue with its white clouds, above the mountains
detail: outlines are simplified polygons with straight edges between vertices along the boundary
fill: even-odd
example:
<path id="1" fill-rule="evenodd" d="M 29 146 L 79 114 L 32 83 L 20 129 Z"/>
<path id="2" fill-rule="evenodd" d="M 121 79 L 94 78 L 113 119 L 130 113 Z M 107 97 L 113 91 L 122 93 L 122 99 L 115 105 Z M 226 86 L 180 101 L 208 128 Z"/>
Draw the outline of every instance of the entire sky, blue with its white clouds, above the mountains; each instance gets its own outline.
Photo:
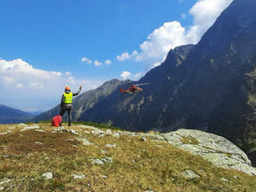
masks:
<path id="1" fill-rule="evenodd" d="M 0 103 L 43 111 L 65 84 L 88 90 L 112 78 L 137 80 L 168 50 L 197 43 L 230 2 L 2 0 Z"/>

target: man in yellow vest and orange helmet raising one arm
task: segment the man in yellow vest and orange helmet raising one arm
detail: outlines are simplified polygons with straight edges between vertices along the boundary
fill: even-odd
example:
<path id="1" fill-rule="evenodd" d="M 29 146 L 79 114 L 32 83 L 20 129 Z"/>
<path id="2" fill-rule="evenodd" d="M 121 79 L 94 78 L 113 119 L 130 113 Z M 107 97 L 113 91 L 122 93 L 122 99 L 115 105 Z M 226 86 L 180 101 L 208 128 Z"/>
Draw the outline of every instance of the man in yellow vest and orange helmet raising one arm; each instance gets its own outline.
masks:
<path id="1" fill-rule="evenodd" d="M 68 126 L 71 126 L 71 110 L 72 110 L 72 101 L 73 96 L 77 96 L 81 92 L 81 86 L 79 87 L 79 91 L 76 93 L 71 92 L 71 88 L 66 86 L 65 92 L 62 94 L 61 98 L 61 111 L 60 115 L 64 115 L 64 113 L 67 111 L 67 117 L 68 117 Z"/>

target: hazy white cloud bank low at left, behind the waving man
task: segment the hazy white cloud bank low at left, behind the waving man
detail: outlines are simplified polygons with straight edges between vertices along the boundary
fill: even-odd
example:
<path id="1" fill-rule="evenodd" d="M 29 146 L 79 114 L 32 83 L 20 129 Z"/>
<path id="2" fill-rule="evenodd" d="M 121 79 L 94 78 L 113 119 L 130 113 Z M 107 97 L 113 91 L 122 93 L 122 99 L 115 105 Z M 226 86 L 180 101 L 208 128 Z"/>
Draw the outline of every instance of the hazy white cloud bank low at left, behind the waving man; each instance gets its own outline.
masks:
<path id="1" fill-rule="evenodd" d="M 0 101 L 24 110 L 42 111 L 59 103 L 65 85 L 71 86 L 72 91 L 78 91 L 79 85 L 88 90 L 102 84 L 101 81 L 77 79 L 70 72 L 64 74 L 67 76 L 60 71 L 36 69 L 21 59 L 0 59 L 0 87 L 5 93 L 0 94 Z"/>

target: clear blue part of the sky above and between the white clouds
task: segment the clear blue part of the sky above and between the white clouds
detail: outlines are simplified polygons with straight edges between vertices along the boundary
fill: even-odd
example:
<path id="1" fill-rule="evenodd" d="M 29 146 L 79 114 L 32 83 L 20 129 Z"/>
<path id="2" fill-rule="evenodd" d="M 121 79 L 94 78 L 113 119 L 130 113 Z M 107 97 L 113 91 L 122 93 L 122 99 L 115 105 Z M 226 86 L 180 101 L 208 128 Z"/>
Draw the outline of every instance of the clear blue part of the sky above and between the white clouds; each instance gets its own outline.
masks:
<path id="1" fill-rule="evenodd" d="M 133 61 L 118 63 L 116 55 L 138 49 L 164 22 L 179 20 L 189 26 L 191 19 L 181 16 L 195 1 L 188 2 L 1 1 L 0 55 L 94 80 L 119 77 L 123 70 L 139 73 L 147 69 Z M 112 65 L 89 66 L 81 63 L 82 57 L 109 59 Z"/>

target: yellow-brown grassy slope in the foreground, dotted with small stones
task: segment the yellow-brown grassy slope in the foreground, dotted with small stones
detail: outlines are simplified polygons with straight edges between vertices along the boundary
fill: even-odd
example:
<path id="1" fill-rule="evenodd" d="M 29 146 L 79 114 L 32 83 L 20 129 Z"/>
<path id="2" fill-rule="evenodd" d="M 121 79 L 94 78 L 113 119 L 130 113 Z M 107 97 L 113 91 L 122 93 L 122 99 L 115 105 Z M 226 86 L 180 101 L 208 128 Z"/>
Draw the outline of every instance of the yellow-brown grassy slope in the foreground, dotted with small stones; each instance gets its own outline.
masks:
<path id="1" fill-rule="evenodd" d="M 0 125 L 0 132 L 9 127 L 12 125 Z M 47 124 L 40 124 L 40 128 L 45 132 L 13 129 L 0 135 L 0 182 L 11 179 L 2 185 L 5 191 L 256 191 L 256 177 L 216 168 L 200 156 L 164 142 L 149 138 L 143 142 L 140 135 L 99 137 L 88 133 L 91 129 L 73 127 L 83 138 L 95 143 L 83 146 L 74 139 L 76 135 L 53 133 Z M 43 142 L 43 146 L 35 142 Z M 116 148 L 106 147 L 112 143 L 116 143 Z M 102 149 L 108 154 L 102 154 Z M 106 156 L 111 156 L 113 163 L 91 163 L 93 158 Z M 192 170 L 200 178 L 185 179 L 181 174 L 184 170 Z M 44 179 L 42 174 L 46 172 L 52 172 L 54 178 Z M 73 173 L 86 177 L 74 180 Z"/>

